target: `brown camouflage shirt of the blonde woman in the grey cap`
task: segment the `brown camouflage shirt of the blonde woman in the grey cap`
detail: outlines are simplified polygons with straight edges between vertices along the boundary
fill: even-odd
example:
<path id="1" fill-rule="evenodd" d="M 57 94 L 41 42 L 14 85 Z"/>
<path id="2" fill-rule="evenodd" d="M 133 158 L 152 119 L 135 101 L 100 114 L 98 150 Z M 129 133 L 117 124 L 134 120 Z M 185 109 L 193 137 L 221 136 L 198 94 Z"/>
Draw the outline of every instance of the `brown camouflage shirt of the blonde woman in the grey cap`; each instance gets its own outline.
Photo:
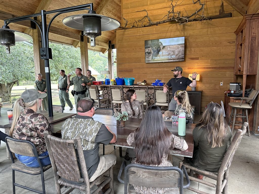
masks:
<path id="1" fill-rule="evenodd" d="M 42 154 L 47 151 L 44 131 L 51 132 L 47 118 L 26 107 L 21 111 L 13 130 L 13 138 L 31 141 L 36 146 L 38 154 Z"/>

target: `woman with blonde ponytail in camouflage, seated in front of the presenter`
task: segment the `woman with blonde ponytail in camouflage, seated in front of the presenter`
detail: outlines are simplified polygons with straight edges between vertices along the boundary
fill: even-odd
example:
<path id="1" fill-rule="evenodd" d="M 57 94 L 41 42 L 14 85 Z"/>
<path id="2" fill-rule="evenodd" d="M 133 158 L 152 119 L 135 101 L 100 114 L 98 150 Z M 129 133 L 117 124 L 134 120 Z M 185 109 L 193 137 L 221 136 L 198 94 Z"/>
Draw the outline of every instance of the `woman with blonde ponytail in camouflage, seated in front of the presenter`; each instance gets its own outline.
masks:
<path id="1" fill-rule="evenodd" d="M 171 112 L 169 110 L 165 111 L 163 115 L 165 117 L 165 120 L 170 121 L 172 115 L 179 115 L 181 113 L 185 113 L 186 121 L 188 121 L 189 123 L 193 123 L 193 110 L 191 108 L 188 93 L 183 90 L 177 90 L 175 92 L 174 99 L 177 102 L 176 110 L 175 112 Z"/>

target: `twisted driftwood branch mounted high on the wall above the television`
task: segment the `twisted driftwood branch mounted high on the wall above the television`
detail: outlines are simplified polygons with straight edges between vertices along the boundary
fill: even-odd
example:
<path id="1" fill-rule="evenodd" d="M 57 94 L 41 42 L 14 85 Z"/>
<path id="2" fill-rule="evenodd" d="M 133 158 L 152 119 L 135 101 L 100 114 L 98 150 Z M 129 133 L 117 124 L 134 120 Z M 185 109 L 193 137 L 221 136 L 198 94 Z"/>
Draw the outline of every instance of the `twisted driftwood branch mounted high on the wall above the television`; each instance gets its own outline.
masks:
<path id="1" fill-rule="evenodd" d="M 127 27 L 128 20 L 123 18 L 126 23 L 125 23 L 124 27 L 121 27 L 121 28 L 122 29 L 142 28 L 142 27 L 148 27 L 148 26 L 154 26 L 154 25 L 158 25 L 158 24 L 163 24 L 163 23 L 166 23 L 166 22 L 169 22 L 169 21 L 176 21 L 177 23 L 179 23 L 179 25 L 182 25 L 182 24 L 188 23 L 189 21 L 211 20 L 210 17 L 205 17 L 204 14 L 203 14 L 204 13 L 205 2 L 201 3 L 200 0 L 197 0 L 197 1 L 193 1 L 192 0 L 193 4 L 199 3 L 199 5 L 201 7 L 200 7 L 199 10 L 196 10 L 191 15 L 188 15 L 187 12 L 185 11 L 187 16 L 184 16 L 183 14 L 181 14 L 181 11 L 176 11 L 176 12 L 174 11 L 175 7 L 182 3 L 181 2 L 181 3 L 178 4 L 178 1 L 179 0 L 177 0 L 177 1 L 171 0 L 171 5 L 170 5 L 171 8 L 168 11 L 168 14 L 166 16 L 164 16 L 159 21 L 156 21 L 156 22 L 152 21 L 152 19 L 150 19 L 150 17 L 148 16 L 147 10 L 144 9 L 144 10 L 136 11 L 136 12 L 145 11 L 146 12 L 146 16 L 144 16 L 142 19 L 139 19 L 137 21 L 135 20 L 134 23 L 130 27 Z M 199 16 L 199 17 L 197 17 L 197 16 Z"/>

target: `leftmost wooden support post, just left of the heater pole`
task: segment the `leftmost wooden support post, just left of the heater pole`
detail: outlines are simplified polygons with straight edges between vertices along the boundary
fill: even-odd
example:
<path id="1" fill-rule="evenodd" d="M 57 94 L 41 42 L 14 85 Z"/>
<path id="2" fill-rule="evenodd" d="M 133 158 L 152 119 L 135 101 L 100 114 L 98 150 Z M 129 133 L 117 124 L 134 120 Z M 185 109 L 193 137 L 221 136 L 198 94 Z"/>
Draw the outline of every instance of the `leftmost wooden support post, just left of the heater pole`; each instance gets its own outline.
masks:
<path id="1" fill-rule="evenodd" d="M 40 59 L 41 36 L 38 28 L 32 29 L 32 40 L 35 66 L 35 80 L 37 79 L 38 73 L 42 74 L 42 79 L 46 79 L 44 60 Z"/>

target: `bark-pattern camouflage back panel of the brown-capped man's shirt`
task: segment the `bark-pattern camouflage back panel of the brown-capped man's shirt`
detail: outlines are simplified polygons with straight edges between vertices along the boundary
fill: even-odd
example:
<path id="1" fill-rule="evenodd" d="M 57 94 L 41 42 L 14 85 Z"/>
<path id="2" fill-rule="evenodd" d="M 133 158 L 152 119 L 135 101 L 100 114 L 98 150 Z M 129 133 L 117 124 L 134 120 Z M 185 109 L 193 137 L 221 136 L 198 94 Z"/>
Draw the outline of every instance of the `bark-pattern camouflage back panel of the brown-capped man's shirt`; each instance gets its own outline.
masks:
<path id="1" fill-rule="evenodd" d="M 62 139 L 80 137 L 83 150 L 92 150 L 95 146 L 95 137 L 102 123 L 92 119 L 68 118 L 62 125 Z"/>

